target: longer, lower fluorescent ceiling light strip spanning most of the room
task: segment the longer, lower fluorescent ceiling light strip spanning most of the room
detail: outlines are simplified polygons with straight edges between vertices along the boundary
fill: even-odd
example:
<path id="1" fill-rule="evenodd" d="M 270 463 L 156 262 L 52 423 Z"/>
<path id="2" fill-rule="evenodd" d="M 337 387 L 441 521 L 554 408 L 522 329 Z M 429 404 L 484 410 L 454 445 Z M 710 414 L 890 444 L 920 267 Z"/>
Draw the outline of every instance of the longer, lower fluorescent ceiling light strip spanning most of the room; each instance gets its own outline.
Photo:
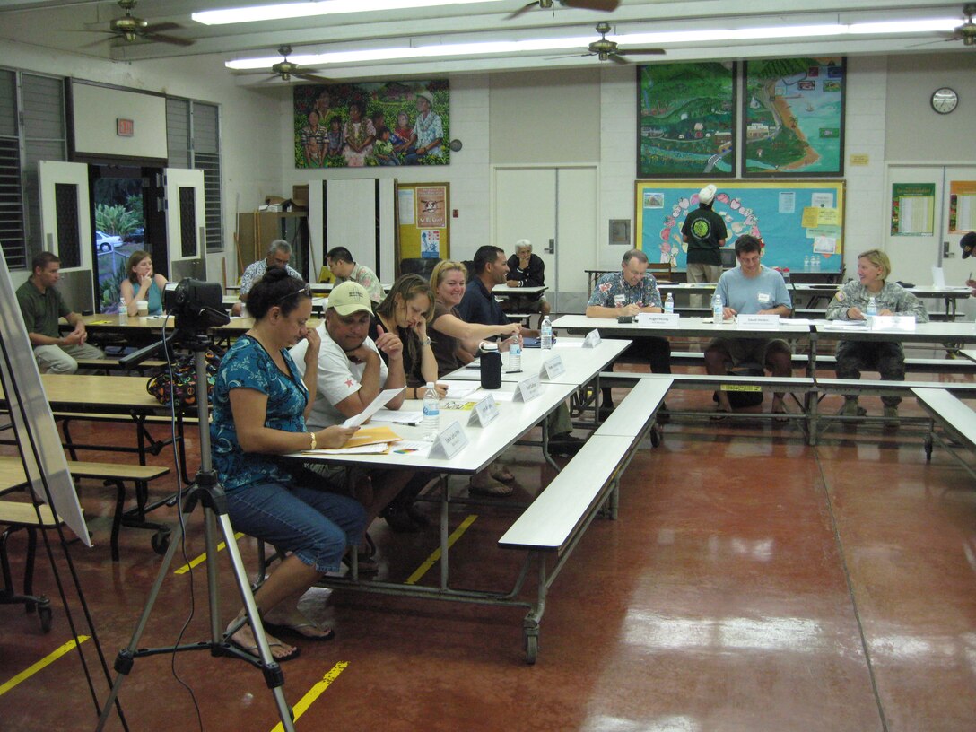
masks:
<path id="1" fill-rule="evenodd" d="M 626 46 L 636 44 L 667 45 L 673 43 L 708 43 L 726 41 L 776 40 L 781 38 L 826 38 L 844 35 L 883 35 L 890 33 L 931 33 L 953 30 L 955 18 L 928 20 L 896 20 L 827 25 L 780 25 L 760 28 L 719 28 L 714 30 L 672 31 L 661 33 L 631 33 L 608 35 L 607 38 Z M 574 38 L 537 38 L 524 41 L 482 41 L 430 46 L 368 49 L 362 51 L 333 51 L 325 54 L 293 56 L 289 61 L 303 66 L 324 66 L 329 63 L 362 63 L 367 61 L 396 61 L 405 59 L 437 59 L 456 56 L 491 56 L 534 51 L 569 51 L 586 49 L 596 36 L 590 34 Z M 263 69 L 281 61 L 280 57 L 226 61 L 224 65 L 238 71 Z"/>

